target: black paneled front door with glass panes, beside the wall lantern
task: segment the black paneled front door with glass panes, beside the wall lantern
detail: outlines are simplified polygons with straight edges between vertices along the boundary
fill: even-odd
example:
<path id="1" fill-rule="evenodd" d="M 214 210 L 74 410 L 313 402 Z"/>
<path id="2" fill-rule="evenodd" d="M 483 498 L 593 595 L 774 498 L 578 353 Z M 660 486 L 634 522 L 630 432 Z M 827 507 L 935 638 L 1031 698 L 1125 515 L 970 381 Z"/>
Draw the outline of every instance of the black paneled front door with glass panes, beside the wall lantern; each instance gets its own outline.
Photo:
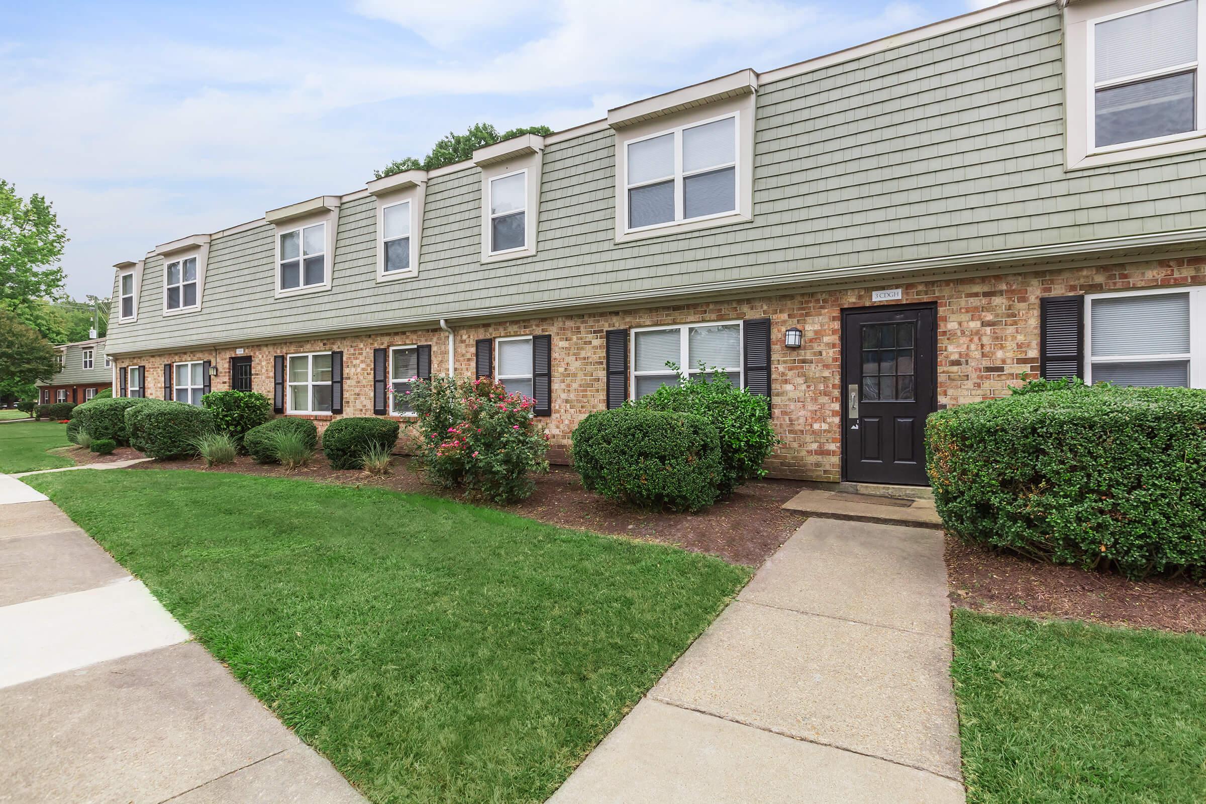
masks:
<path id="1" fill-rule="evenodd" d="M 842 463 L 861 483 L 925 486 L 936 410 L 935 305 L 842 311 Z"/>

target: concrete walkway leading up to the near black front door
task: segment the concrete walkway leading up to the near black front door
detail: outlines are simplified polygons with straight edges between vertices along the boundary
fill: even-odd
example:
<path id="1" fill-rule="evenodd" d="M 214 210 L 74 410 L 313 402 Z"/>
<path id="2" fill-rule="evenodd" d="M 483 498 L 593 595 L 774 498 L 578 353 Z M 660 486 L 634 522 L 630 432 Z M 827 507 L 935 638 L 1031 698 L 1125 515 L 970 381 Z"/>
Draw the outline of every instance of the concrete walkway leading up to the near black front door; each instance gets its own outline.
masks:
<path id="1" fill-rule="evenodd" d="M 550 800 L 962 803 L 942 546 L 809 520 Z"/>

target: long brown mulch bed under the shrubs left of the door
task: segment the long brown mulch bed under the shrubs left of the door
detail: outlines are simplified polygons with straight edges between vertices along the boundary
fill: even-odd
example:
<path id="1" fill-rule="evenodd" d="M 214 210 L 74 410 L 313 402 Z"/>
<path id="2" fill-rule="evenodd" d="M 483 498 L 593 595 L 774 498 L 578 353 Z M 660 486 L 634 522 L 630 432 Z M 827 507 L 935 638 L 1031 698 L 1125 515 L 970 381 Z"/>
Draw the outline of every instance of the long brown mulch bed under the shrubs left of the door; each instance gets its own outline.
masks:
<path id="1" fill-rule="evenodd" d="M 377 486 L 398 492 L 464 499 L 456 489 L 425 483 L 422 475 L 414 471 L 410 464 L 408 458 L 394 458 L 393 474 L 385 477 L 332 469 L 321 453 L 315 456 L 309 466 L 294 471 L 286 471 L 276 464 L 258 464 L 246 456 L 232 464 L 212 468 L 206 468 L 199 460 L 156 460 L 131 468 L 300 477 L 324 483 Z M 803 515 L 780 507 L 802 488 L 803 485 L 796 481 L 760 480 L 747 483 L 728 500 L 699 513 L 657 513 L 610 503 L 582 488 L 572 469 L 554 466 L 548 475 L 535 477 L 535 491 L 526 500 L 513 505 L 470 501 L 564 528 L 662 541 L 695 552 L 713 553 L 734 564 L 757 567 L 803 523 Z"/>

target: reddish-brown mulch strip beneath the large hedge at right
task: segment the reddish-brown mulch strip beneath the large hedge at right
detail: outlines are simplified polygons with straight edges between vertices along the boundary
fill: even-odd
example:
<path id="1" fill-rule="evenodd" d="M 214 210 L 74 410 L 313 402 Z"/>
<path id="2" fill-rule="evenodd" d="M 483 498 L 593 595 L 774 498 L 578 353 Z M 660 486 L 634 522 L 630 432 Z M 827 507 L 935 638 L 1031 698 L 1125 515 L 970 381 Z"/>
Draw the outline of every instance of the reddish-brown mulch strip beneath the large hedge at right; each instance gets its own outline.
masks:
<path id="1" fill-rule="evenodd" d="M 1206 587 L 1184 577 L 1128 581 L 1112 573 L 993 553 L 954 536 L 947 536 L 946 558 L 956 606 L 1206 634 Z"/>

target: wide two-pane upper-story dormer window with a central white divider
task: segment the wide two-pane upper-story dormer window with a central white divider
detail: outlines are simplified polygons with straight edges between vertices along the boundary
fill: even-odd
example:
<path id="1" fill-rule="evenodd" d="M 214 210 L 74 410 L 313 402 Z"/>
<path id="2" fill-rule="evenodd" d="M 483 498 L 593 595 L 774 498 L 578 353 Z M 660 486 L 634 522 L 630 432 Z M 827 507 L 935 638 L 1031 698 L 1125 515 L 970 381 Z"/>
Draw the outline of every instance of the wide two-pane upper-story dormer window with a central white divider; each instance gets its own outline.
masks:
<path id="1" fill-rule="evenodd" d="M 626 147 L 630 231 L 737 211 L 737 113 Z"/>

